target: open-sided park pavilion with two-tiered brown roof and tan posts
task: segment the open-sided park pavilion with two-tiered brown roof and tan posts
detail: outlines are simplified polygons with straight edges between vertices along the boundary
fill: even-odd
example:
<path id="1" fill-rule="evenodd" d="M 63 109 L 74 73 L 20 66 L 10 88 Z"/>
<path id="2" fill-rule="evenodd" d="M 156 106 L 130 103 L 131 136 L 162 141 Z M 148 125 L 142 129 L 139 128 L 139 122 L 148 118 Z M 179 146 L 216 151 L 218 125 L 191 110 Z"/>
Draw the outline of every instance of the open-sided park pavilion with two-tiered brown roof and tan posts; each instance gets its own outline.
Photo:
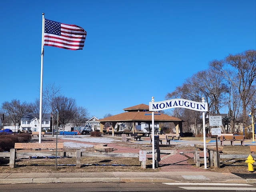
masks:
<path id="1" fill-rule="evenodd" d="M 118 122 L 131 122 L 132 132 L 134 133 L 136 123 L 140 124 L 146 122 L 150 125 L 152 123 L 152 112 L 149 111 L 149 106 L 146 104 L 139 104 L 132 107 L 123 109 L 125 112 L 117 115 L 109 116 L 100 119 L 100 132 L 103 132 L 103 127 L 106 122 L 112 123 L 112 135 L 114 135 L 114 127 Z M 180 133 L 182 136 L 182 120 L 176 117 L 172 117 L 163 113 L 154 112 L 155 123 L 173 122 L 176 133 Z"/>

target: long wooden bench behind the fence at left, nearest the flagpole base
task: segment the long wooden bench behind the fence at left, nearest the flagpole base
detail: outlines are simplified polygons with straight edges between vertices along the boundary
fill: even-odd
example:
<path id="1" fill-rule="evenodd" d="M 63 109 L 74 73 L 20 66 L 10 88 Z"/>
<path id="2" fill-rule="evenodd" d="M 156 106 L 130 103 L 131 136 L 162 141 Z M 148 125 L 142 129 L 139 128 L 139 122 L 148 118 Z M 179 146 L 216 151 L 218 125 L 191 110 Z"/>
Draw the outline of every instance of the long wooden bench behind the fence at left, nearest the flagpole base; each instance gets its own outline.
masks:
<path id="1" fill-rule="evenodd" d="M 56 143 L 15 143 L 14 149 L 17 152 L 48 152 L 56 151 Z M 63 151 L 63 143 L 57 143 L 57 151 Z M 29 159 L 31 156 L 29 156 Z M 47 156 L 46 156 L 47 159 Z"/>

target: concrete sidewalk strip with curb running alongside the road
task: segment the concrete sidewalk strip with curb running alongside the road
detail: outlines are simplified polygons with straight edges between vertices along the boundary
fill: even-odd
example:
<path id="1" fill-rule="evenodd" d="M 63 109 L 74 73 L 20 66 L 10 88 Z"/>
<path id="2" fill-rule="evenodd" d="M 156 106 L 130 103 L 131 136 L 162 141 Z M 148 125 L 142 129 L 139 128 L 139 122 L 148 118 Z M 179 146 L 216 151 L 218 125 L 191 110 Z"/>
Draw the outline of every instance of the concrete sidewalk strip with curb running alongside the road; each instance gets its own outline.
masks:
<path id="1" fill-rule="evenodd" d="M 76 173 L 0 173 L 0 184 L 75 183 L 75 182 L 214 182 L 255 184 L 219 172 L 76 172 Z"/>

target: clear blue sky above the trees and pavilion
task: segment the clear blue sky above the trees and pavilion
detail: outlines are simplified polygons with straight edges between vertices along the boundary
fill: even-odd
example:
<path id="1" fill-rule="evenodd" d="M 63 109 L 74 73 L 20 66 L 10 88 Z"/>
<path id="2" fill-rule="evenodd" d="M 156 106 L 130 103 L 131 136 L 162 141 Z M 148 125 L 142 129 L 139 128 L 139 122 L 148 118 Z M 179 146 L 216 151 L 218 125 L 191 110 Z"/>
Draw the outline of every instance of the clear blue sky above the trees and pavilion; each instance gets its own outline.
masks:
<path id="1" fill-rule="evenodd" d="M 42 13 L 87 32 L 83 50 L 44 47 L 55 84 L 91 116 L 165 100 L 212 60 L 256 49 L 255 0 L 0 2 L 0 104 L 40 96 Z"/>

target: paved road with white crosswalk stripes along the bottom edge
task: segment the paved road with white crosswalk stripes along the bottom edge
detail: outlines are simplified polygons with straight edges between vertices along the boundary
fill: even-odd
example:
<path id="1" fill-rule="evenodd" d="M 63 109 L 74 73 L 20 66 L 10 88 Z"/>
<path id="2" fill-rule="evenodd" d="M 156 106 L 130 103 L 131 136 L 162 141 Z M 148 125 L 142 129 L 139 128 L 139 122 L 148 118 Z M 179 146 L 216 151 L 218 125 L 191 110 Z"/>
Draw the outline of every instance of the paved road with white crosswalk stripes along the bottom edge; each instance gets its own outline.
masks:
<path id="1" fill-rule="evenodd" d="M 0 192 L 165 192 L 165 191 L 256 191 L 252 184 L 223 183 L 50 183 L 0 185 Z"/>

